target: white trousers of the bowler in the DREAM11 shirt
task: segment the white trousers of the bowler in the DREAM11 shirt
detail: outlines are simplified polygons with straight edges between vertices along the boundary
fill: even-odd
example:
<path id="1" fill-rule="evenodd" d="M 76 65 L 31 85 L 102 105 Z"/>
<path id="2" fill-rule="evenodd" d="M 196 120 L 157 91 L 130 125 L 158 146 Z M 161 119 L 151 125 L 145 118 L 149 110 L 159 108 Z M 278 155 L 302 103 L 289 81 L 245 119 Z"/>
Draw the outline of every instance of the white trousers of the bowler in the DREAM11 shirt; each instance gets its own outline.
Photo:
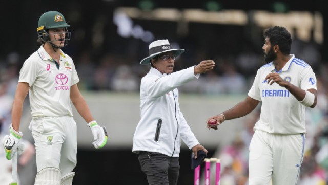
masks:
<path id="1" fill-rule="evenodd" d="M 250 143 L 249 185 L 294 185 L 303 160 L 305 135 L 256 130 Z"/>

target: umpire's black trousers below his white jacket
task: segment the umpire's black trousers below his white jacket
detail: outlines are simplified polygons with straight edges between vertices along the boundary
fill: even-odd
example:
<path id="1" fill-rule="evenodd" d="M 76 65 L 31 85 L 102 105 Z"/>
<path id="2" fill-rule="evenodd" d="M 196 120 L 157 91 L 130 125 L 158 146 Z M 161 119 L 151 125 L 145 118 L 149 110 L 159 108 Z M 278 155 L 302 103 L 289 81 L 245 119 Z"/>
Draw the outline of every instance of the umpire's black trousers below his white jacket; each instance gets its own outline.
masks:
<path id="1" fill-rule="evenodd" d="M 149 185 L 177 185 L 179 177 L 179 158 L 157 152 L 139 152 L 142 172 L 147 175 Z"/>

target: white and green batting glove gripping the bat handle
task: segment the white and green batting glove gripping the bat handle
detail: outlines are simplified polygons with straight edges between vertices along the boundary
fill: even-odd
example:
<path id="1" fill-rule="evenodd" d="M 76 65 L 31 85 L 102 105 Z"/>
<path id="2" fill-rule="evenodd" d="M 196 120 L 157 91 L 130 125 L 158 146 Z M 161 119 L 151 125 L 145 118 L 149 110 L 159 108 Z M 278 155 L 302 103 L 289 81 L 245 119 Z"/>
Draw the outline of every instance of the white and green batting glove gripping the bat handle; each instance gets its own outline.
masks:
<path id="1" fill-rule="evenodd" d="M 12 126 L 9 128 L 10 134 L 6 135 L 2 141 L 3 146 L 6 151 L 6 158 L 11 160 L 13 154 L 17 151 L 18 154 L 22 154 L 24 150 L 24 144 L 19 143 L 20 139 L 23 136 L 22 132 L 17 132 Z"/>

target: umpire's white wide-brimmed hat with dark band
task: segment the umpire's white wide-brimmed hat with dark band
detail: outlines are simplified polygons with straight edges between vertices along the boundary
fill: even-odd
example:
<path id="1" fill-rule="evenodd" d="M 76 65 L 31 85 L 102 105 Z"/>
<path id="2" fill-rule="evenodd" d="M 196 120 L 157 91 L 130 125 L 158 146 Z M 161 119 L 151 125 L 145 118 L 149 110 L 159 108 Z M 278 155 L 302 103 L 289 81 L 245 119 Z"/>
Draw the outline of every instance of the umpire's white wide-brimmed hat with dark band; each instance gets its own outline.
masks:
<path id="1" fill-rule="evenodd" d="M 169 43 L 169 40 L 157 40 L 149 45 L 149 56 L 145 59 L 142 59 L 140 64 L 150 64 L 150 60 L 154 57 L 156 57 L 158 54 L 163 52 L 173 51 L 175 54 L 175 57 L 178 57 L 185 49 L 173 49 L 171 44 Z"/>

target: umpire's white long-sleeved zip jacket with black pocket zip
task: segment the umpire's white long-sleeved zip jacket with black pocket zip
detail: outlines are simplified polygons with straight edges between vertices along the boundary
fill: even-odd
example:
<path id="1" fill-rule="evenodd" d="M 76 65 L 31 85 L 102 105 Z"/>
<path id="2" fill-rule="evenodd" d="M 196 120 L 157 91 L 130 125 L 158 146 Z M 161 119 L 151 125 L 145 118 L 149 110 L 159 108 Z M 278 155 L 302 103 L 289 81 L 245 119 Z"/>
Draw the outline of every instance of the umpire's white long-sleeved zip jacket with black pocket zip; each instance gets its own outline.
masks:
<path id="1" fill-rule="evenodd" d="M 198 78 L 192 66 L 170 75 L 162 75 L 152 67 L 141 79 L 141 119 L 133 137 L 133 152 L 149 151 L 179 157 L 181 139 L 189 149 L 199 144 L 181 113 L 177 89 Z"/>

